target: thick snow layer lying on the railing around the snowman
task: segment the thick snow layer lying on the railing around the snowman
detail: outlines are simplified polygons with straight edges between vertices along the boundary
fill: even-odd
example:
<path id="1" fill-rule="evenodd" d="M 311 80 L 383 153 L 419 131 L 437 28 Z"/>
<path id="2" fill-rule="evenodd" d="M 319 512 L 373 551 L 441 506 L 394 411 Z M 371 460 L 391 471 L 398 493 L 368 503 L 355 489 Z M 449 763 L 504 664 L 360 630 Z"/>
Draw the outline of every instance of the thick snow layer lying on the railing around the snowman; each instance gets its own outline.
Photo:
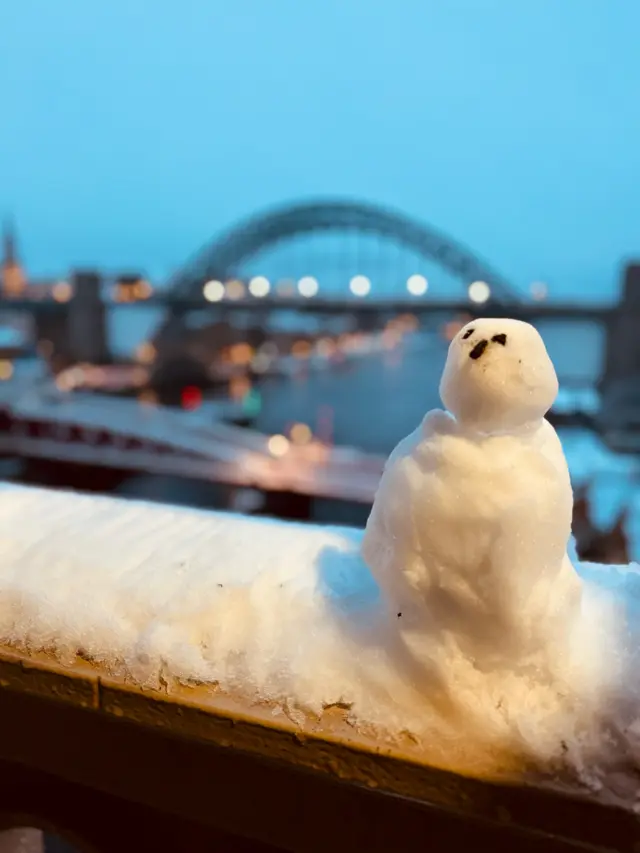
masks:
<path id="1" fill-rule="evenodd" d="M 81 652 L 147 687 L 216 685 L 299 724 L 340 704 L 356 728 L 409 735 L 461 772 L 498 773 L 505 755 L 566 764 L 564 743 L 582 777 L 617 682 L 596 695 L 574 683 L 563 698 L 533 669 L 482 673 L 452 658 L 430 671 L 429 649 L 388 618 L 361 541 L 358 530 L 3 485 L 0 642 L 65 663 Z M 637 567 L 587 574 L 640 601 Z M 585 656 L 603 634 L 590 619 L 599 607 L 585 598 Z M 609 658 L 617 673 L 622 652 Z"/>

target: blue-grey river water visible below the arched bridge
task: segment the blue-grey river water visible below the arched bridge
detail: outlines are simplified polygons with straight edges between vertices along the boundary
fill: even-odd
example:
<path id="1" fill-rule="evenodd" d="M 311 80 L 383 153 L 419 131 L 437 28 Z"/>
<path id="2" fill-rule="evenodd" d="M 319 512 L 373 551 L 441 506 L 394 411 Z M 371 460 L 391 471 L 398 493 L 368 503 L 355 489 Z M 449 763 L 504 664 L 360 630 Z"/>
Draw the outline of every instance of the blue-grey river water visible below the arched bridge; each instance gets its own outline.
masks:
<path id="1" fill-rule="evenodd" d="M 114 350 L 130 355 L 161 319 L 158 309 L 111 309 Z M 604 332 L 588 322 L 546 321 L 540 326 L 561 384 L 593 386 L 602 364 Z M 437 330 L 413 336 L 406 345 L 324 370 L 301 368 L 292 378 L 261 383 L 257 428 L 282 432 L 293 422 L 331 429 L 337 444 L 388 453 L 430 408 L 439 405 L 438 381 L 447 342 Z M 331 421 L 329 424 L 328 421 Z"/>

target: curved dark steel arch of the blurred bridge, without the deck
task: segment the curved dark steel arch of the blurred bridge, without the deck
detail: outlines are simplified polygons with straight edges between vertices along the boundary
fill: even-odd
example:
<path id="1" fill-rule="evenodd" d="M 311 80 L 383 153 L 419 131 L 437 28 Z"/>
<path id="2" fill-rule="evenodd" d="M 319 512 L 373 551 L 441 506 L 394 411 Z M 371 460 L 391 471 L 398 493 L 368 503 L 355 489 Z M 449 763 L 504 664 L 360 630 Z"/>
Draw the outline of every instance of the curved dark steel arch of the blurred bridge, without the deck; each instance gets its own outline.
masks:
<path id="1" fill-rule="evenodd" d="M 249 217 L 201 249 L 172 277 L 170 286 L 176 295 L 197 296 L 206 281 L 236 277 L 243 262 L 277 243 L 316 231 L 347 230 L 395 240 L 466 284 L 486 281 L 494 299 L 520 300 L 515 287 L 461 243 L 402 213 L 344 200 L 288 204 Z"/>

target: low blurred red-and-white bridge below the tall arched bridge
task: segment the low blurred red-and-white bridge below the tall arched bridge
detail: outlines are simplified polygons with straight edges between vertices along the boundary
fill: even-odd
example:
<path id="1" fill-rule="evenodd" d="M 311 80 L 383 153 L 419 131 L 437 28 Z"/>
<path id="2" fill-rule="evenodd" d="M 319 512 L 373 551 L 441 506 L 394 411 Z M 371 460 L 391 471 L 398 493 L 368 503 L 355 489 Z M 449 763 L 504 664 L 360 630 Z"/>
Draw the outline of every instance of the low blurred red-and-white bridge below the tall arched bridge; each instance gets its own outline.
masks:
<path id="1" fill-rule="evenodd" d="M 0 397 L 0 454 L 365 504 L 384 463 L 349 448 L 295 445 L 221 420 L 54 388 Z"/>

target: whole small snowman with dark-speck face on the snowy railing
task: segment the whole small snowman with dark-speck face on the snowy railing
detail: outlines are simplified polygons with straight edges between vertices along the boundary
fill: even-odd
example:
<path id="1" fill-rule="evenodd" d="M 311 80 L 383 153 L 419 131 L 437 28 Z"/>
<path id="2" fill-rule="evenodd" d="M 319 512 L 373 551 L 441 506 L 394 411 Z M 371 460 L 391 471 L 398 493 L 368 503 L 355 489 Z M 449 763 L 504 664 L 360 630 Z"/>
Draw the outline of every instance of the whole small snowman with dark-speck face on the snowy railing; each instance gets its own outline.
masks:
<path id="1" fill-rule="evenodd" d="M 567 556 L 569 472 L 544 417 L 557 392 L 533 326 L 474 320 L 449 348 L 448 411 L 429 412 L 387 462 L 363 555 L 398 630 L 427 635 L 441 662 L 563 656 L 581 581 Z"/>

